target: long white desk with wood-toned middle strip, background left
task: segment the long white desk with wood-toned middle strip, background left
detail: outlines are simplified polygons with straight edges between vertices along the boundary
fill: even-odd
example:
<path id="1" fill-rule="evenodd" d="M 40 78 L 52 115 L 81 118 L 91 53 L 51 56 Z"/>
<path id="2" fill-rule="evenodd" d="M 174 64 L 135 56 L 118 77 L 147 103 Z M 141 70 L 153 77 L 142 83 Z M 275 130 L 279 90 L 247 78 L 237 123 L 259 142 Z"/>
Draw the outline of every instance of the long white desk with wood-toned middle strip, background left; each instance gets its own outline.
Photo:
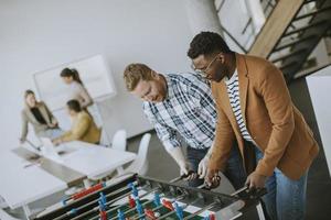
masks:
<path id="1" fill-rule="evenodd" d="M 61 162 L 44 158 L 40 165 L 29 164 L 14 152 L 0 154 L 0 196 L 10 208 L 23 207 L 26 218 L 29 204 L 67 188 L 71 183 L 98 179 L 136 158 L 135 153 L 121 152 L 85 142 L 70 142 L 58 146 L 67 153 Z M 87 177 L 87 179 L 86 179 Z"/>

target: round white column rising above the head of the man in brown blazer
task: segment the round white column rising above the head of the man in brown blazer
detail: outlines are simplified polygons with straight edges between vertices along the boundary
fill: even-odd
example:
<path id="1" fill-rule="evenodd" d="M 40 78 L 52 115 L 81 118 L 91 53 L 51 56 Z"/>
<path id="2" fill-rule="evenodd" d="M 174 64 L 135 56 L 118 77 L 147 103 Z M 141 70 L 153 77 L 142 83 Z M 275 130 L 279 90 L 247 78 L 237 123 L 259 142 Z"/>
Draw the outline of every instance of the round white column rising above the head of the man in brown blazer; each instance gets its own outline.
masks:
<path id="1" fill-rule="evenodd" d="M 214 0 L 184 0 L 184 2 L 193 35 L 202 31 L 223 35 Z"/>

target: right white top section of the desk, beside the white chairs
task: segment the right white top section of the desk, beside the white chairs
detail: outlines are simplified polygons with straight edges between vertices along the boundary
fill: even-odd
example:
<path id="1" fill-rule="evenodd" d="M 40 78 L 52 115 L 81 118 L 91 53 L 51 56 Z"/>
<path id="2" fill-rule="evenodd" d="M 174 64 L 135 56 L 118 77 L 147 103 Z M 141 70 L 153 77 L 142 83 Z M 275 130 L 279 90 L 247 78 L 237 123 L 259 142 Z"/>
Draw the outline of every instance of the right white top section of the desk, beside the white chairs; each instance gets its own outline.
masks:
<path id="1" fill-rule="evenodd" d="M 79 141 L 68 142 L 65 143 L 65 146 L 60 147 L 64 151 L 75 150 L 61 156 L 63 165 L 93 179 L 134 161 L 137 156 L 131 152 L 117 151 Z"/>

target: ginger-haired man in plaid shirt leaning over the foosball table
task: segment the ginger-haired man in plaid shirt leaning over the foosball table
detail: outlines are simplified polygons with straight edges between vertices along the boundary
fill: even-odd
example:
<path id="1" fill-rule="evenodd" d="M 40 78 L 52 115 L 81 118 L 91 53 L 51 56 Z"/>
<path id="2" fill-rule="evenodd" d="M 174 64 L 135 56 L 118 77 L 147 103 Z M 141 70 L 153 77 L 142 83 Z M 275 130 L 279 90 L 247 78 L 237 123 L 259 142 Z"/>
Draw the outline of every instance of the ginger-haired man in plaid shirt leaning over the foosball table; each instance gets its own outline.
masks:
<path id="1" fill-rule="evenodd" d="M 189 185 L 203 184 L 214 140 L 216 110 L 209 82 L 199 75 L 162 75 L 145 64 L 130 64 L 124 79 L 127 90 L 143 100 L 143 112 L 153 124 L 168 153 L 180 166 L 181 175 L 189 170 Z M 186 158 L 177 133 L 188 143 Z M 237 146 L 231 153 L 225 175 L 237 189 L 246 176 Z"/>

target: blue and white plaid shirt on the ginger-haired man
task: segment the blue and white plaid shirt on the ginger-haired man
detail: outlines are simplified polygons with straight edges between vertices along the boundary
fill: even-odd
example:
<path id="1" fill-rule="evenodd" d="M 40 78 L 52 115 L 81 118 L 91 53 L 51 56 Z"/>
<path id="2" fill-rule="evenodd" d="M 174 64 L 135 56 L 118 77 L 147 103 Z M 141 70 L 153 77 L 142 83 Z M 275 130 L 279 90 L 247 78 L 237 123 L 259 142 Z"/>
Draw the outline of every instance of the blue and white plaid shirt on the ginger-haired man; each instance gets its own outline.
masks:
<path id="1" fill-rule="evenodd" d="M 143 102 L 143 112 L 167 150 L 181 146 L 177 132 L 193 148 L 212 146 L 216 123 L 210 85 L 199 75 L 163 75 L 168 95 L 162 102 Z"/>

